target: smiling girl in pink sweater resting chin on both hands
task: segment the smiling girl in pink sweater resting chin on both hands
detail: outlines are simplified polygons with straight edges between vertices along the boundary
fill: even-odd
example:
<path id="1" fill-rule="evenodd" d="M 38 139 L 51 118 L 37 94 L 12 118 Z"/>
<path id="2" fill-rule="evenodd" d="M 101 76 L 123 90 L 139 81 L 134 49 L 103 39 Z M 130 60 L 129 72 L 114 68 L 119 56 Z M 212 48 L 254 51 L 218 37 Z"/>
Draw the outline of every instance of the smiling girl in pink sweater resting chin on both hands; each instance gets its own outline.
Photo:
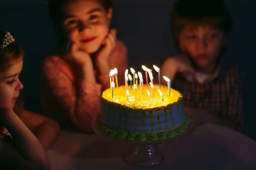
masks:
<path id="1" fill-rule="evenodd" d="M 109 73 L 127 68 L 125 45 L 109 29 L 110 0 L 50 0 L 50 15 L 67 43 L 64 52 L 43 64 L 44 112 L 62 127 L 92 131 L 101 112 L 101 94 L 109 86 Z M 118 74 L 124 82 L 124 74 Z"/>

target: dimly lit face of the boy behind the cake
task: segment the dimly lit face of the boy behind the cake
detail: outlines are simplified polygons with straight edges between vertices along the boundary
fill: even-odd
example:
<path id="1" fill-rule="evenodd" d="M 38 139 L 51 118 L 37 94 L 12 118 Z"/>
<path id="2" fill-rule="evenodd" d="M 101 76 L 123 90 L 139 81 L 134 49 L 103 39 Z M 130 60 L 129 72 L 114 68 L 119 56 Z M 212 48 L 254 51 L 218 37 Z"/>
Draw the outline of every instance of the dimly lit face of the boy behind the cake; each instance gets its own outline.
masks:
<path id="1" fill-rule="evenodd" d="M 224 32 L 209 26 L 186 26 L 180 32 L 180 49 L 189 54 L 199 68 L 215 64 L 227 38 Z"/>

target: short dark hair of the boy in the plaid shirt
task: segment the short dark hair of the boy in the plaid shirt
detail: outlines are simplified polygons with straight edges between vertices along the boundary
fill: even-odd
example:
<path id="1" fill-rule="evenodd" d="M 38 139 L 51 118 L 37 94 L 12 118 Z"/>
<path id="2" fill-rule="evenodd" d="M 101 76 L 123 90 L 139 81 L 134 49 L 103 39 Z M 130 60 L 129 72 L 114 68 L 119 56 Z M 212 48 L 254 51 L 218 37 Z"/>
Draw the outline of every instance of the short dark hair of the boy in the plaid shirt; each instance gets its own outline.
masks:
<path id="1" fill-rule="evenodd" d="M 207 25 L 224 31 L 233 28 L 230 12 L 223 0 L 176 0 L 170 19 L 175 46 L 179 49 L 180 31 L 187 25 Z"/>

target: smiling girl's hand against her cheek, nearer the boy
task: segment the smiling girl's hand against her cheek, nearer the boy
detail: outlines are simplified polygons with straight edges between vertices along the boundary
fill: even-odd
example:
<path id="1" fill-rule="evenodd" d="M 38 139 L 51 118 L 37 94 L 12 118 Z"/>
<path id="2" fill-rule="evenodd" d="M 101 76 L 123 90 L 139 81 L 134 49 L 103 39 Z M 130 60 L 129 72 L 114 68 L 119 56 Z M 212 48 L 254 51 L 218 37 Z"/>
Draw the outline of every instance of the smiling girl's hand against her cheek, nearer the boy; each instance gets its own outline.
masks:
<path id="1" fill-rule="evenodd" d="M 116 29 L 111 29 L 108 36 L 102 42 L 103 48 L 96 56 L 96 65 L 102 67 L 108 64 L 108 58 L 116 47 Z"/>

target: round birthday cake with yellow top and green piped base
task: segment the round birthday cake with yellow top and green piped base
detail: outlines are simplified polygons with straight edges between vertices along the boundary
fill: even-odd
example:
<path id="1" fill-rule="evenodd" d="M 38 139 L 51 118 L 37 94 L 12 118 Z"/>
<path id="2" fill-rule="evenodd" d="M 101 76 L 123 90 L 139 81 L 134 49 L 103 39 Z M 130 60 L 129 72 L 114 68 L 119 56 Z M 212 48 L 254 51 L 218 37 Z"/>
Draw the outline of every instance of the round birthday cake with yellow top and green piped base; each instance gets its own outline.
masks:
<path id="1" fill-rule="evenodd" d="M 164 85 L 141 85 L 122 85 L 102 93 L 102 113 L 96 120 L 100 133 L 143 142 L 184 132 L 191 120 L 184 112 L 182 94 Z"/>

